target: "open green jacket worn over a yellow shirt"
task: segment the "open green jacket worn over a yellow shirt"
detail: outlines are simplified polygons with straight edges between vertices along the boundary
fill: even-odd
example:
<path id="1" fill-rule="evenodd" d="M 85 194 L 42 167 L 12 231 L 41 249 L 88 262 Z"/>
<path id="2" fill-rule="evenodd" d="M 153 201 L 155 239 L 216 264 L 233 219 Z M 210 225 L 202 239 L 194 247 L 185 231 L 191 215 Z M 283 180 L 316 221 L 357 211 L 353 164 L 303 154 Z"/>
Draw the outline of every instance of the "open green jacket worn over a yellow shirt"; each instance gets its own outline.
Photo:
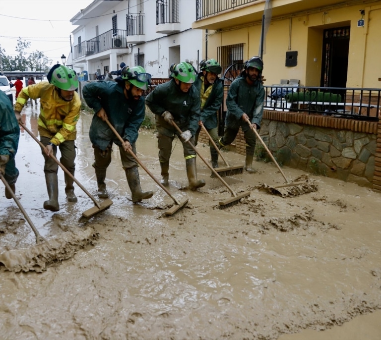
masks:
<path id="1" fill-rule="evenodd" d="M 193 83 L 198 93 L 201 91 L 201 85 L 203 82 L 201 79 L 202 76 L 203 72 L 200 72 L 196 78 L 196 81 Z M 217 127 L 217 112 L 221 107 L 222 100 L 224 99 L 223 80 L 217 78 L 212 86 L 212 92 L 210 93 L 201 111 L 201 120 L 208 130 Z"/>

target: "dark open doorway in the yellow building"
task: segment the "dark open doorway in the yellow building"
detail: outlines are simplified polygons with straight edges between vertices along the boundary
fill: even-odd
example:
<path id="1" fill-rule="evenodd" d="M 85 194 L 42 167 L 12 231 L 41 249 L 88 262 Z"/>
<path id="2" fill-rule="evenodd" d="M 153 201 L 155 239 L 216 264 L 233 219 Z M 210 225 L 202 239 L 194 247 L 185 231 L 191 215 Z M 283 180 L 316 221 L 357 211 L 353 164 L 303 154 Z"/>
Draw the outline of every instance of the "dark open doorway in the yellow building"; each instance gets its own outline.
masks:
<path id="1" fill-rule="evenodd" d="M 349 36 L 350 26 L 324 30 L 322 49 L 323 55 L 321 58 L 321 87 L 346 87 Z M 345 94 L 345 90 L 337 90 L 334 92 L 341 95 Z"/>

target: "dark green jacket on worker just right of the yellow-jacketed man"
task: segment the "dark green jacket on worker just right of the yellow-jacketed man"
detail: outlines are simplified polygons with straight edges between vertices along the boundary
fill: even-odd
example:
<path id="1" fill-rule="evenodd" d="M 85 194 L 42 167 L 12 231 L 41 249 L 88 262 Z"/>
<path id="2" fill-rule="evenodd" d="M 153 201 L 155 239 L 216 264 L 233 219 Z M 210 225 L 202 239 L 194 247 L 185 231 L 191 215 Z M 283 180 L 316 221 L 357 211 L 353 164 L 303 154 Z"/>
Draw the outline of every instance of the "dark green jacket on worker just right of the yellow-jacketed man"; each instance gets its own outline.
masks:
<path id="1" fill-rule="evenodd" d="M 137 101 L 127 99 L 123 92 L 124 84 L 124 81 L 122 83 L 114 81 L 88 83 L 83 87 L 82 95 L 95 113 L 103 108 L 123 140 L 127 140 L 132 145 L 137 140 L 138 131 L 144 119 L 144 97 L 140 97 Z M 107 123 L 96 114 L 91 121 L 89 136 L 91 143 L 101 150 L 106 150 L 111 142 L 118 146 L 122 145 Z"/>

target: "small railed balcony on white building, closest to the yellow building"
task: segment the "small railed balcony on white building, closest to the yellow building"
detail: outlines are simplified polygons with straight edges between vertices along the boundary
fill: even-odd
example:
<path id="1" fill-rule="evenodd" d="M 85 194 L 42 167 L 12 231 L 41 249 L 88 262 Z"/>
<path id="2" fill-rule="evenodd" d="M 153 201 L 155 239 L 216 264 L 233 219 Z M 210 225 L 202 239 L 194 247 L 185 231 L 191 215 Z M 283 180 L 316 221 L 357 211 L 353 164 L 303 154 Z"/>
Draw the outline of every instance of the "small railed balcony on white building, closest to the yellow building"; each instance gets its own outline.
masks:
<path id="1" fill-rule="evenodd" d="M 156 33 L 180 32 L 179 0 L 156 0 Z"/>

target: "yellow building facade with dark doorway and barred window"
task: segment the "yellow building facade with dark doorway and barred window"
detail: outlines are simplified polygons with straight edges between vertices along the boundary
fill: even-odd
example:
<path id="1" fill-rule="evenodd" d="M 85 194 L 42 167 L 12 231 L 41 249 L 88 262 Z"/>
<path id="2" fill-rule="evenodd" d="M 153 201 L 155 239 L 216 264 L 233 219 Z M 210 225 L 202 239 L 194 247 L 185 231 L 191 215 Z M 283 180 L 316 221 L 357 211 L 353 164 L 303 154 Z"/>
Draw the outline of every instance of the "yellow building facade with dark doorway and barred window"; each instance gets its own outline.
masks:
<path id="1" fill-rule="evenodd" d="M 203 57 L 216 58 L 226 70 L 260 55 L 266 1 L 237 0 L 234 8 L 223 2 L 199 0 L 192 28 L 205 30 Z M 267 4 L 271 21 L 263 39 L 265 85 L 298 79 L 304 86 L 380 88 L 381 0 Z"/>

